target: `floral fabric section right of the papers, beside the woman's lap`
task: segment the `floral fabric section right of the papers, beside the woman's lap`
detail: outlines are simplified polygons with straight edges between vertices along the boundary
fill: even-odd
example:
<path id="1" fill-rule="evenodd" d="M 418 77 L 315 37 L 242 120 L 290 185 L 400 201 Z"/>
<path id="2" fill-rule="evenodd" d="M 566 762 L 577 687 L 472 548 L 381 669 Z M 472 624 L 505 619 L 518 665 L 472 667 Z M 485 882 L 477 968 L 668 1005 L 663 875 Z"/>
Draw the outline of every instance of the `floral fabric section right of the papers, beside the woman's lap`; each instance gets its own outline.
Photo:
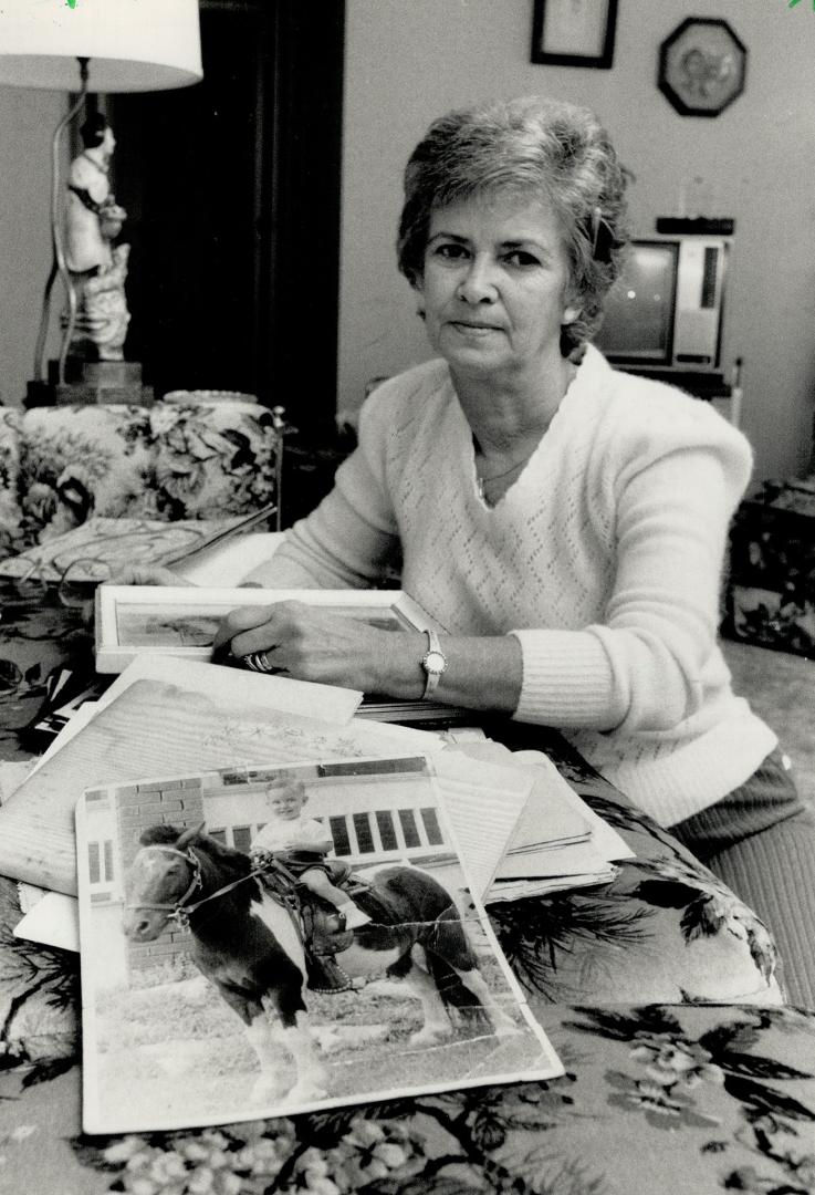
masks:
<path id="1" fill-rule="evenodd" d="M 668 831 L 636 809 L 560 735 L 511 723 L 507 746 L 545 750 L 586 803 L 620 834 L 633 857 L 598 888 L 496 905 L 498 940 L 533 1011 L 609 1003 L 783 1003 L 774 943 L 756 914 Z M 533 759 L 529 755 L 529 759 Z"/>

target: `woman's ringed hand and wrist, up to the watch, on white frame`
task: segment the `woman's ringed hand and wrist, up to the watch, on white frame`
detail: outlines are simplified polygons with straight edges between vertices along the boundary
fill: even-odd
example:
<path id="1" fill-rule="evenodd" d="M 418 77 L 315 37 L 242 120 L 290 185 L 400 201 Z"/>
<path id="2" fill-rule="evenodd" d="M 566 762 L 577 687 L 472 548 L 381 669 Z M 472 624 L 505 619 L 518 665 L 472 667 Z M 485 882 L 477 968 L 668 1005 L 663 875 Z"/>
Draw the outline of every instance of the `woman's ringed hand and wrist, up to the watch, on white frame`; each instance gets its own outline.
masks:
<path id="1" fill-rule="evenodd" d="M 215 635 L 214 658 L 228 654 L 241 660 L 251 652 L 264 652 L 270 669 L 298 680 L 387 693 L 394 679 L 388 664 L 403 638 L 398 632 L 381 631 L 362 619 L 343 618 L 319 606 L 278 601 L 272 606 L 241 606 L 227 614 Z M 418 667 L 422 643 L 417 635 L 411 652 L 416 658 L 412 695 L 421 695 L 423 688 Z"/>

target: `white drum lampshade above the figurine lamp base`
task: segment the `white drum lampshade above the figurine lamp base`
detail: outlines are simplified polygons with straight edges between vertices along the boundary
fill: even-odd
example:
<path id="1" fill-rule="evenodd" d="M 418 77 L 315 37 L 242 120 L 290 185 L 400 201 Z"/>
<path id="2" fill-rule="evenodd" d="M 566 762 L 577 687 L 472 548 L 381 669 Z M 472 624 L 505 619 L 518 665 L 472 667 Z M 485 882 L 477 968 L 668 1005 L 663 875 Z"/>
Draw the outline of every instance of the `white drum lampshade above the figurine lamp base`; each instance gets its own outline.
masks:
<path id="1" fill-rule="evenodd" d="M 92 92 L 163 91 L 203 78 L 198 0 L 5 0 L 0 84 Z"/>

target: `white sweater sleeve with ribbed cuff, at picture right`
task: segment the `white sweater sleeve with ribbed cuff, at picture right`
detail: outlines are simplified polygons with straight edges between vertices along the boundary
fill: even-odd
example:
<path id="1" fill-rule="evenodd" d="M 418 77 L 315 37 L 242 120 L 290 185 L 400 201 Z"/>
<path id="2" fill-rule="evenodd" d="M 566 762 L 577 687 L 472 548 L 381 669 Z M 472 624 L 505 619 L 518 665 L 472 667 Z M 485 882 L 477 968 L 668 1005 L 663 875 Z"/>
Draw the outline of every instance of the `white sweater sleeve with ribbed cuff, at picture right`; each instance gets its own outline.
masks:
<path id="1" fill-rule="evenodd" d="M 658 733 L 701 705 L 728 526 L 750 453 L 727 425 L 713 442 L 694 439 L 618 472 L 615 571 L 602 619 L 582 631 L 511 632 L 523 658 L 517 719 Z"/>

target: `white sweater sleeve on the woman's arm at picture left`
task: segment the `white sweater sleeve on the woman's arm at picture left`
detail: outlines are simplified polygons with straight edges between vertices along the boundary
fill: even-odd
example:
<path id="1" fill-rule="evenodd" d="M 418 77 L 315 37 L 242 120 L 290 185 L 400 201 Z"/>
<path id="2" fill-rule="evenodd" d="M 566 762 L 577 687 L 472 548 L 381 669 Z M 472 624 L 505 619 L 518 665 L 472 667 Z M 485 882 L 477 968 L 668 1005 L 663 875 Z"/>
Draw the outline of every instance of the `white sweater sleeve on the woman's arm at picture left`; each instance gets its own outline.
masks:
<path id="1" fill-rule="evenodd" d="M 399 556 L 385 480 L 385 423 L 372 396 L 360 418 L 360 443 L 337 470 L 331 492 L 265 564 L 245 578 L 270 589 L 364 589 Z"/>

